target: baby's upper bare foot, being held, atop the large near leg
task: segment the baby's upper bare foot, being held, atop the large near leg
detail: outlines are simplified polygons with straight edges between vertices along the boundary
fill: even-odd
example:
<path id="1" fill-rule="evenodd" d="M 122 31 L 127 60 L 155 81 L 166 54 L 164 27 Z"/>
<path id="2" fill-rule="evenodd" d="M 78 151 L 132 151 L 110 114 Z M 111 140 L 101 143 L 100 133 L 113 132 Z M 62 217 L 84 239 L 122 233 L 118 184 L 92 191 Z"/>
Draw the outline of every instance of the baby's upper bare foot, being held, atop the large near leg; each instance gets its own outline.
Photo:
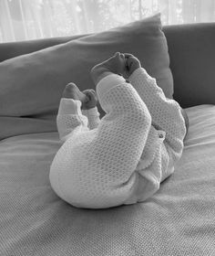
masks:
<path id="1" fill-rule="evenodd" d="M 122 74 L 125 71 L 126 59 L 123 53 L 116 52 L 115 55 L 91 69 L 91 77 L 95 84 L 109 73 Z"/>

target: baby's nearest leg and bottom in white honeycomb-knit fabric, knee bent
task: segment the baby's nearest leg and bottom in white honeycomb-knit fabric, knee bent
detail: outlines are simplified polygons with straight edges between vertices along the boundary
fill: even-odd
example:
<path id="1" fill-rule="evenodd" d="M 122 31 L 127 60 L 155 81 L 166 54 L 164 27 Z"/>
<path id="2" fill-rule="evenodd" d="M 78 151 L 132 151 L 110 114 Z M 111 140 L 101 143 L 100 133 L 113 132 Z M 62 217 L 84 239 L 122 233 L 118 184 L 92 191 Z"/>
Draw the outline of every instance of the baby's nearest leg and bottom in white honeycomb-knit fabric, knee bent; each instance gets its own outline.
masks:
<path id="1" fill-rule="evenodd" d="M 115 207 L 130 197 L 151 126 L 146 104 L 120 76 L 100 80 L 97 98 L 107 114 L 97 129 L 67 141 L 51 168 L 58 195 L 79 208 Z"/>

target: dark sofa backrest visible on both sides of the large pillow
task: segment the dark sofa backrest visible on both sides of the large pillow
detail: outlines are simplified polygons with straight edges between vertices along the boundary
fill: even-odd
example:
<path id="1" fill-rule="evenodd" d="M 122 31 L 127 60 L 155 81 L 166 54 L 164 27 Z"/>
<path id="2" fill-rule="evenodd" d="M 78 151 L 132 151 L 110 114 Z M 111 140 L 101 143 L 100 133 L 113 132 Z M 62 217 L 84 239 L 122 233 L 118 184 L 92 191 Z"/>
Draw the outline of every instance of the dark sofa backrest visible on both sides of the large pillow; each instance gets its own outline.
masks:
<path id="1" fill-rule="evenodd" d="M 215 104 L 215 23 L 163 27 L 169 46 L 174 99 L 181 107 Z M 0 61 L 65 43 L 54 37 L 0 44 Z"/>

